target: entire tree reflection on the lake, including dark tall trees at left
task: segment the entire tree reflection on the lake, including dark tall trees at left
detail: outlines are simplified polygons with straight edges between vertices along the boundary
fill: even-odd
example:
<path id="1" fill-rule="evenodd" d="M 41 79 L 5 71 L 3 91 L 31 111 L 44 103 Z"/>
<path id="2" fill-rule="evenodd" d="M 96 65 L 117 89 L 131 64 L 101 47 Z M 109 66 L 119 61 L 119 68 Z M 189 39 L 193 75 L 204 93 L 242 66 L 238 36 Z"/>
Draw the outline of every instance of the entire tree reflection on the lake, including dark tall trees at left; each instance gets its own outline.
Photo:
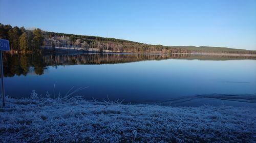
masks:
<path id="1" fill-rule="evenodd" d="M 113 53 L 82 53 L 82 54 L 4 54 L 4 75 L 42 75 L 47 66 L 58 65 L 96 65 L 117 64 L 147 60 L 186 59 L 186 60 L 237 60 L 255 59 L 249 56 L 227 55 L 190 55 L 190 54 L 113 54 Z"/>

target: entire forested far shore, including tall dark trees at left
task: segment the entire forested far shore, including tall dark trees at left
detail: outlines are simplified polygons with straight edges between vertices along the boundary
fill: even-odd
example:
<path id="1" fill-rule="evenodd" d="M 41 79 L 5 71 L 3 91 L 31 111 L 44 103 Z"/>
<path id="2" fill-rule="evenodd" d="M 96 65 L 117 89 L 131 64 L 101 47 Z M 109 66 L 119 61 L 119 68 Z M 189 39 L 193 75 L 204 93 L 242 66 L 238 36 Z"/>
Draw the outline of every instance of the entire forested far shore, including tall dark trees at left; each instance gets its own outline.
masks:
<path id="1" fill-rule="evenodd" d="M 34 51 L 38 49 L 55 50 L 78 49 L 99 52 L 161 52 L 161 53 L 243 53 L 256 54 L 256 51 L 231 49 L 224 47 L 163 46 L 138 43 L 115 38 L 83 36 L 42 31 L 39 28 L 26 30 L 24 27 L 12 27 L 0 23 L 0 38 L 10 41 L 11 50 Z"/>

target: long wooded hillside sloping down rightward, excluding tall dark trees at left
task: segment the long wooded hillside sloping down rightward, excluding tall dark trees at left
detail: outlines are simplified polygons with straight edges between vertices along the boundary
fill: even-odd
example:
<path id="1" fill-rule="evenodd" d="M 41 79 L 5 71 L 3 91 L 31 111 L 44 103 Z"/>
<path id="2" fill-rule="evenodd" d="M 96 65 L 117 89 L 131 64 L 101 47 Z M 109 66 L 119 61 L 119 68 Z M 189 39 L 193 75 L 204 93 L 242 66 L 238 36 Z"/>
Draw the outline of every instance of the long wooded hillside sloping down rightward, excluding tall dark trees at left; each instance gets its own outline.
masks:
<path id="1" fill-rule="evenodd" d="M 207 52 L 207 53 L 244 53 L 256 54 L 256 51 L 245 49 L 233 49 L 227 47 L 209 47 L 209 46 L 163 46 L 139 43 L 134 41 L 104 38 L 96 36 L 73 35 L 64 33 L 46 32 L 48 35 L 47 44 L 51 47 L 49 42 L 58 43 L 57 47 L 82 47 L 85 50 L 89 48 L 96 48 L 99 51 L 113 51 L 113 52 L 161 52 L 161 53 L 193 53 L 193 52 Z M 57 41 L 57 42 L 56 42 Z M 65 41 L 70 41 L 71 44 L 65 46 Z"/>

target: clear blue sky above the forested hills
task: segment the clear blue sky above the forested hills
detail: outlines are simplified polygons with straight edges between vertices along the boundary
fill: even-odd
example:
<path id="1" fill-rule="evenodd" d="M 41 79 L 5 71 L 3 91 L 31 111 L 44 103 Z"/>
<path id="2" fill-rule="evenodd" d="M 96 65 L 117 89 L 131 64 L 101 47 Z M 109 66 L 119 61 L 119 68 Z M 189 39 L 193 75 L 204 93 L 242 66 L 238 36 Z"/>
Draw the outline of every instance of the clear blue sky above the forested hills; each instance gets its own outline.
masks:
<path id="1" fill-rule="evenodd" d="M 256 1 L 0 0 L 0 22 L 148 44 L 256 50 Z"/>

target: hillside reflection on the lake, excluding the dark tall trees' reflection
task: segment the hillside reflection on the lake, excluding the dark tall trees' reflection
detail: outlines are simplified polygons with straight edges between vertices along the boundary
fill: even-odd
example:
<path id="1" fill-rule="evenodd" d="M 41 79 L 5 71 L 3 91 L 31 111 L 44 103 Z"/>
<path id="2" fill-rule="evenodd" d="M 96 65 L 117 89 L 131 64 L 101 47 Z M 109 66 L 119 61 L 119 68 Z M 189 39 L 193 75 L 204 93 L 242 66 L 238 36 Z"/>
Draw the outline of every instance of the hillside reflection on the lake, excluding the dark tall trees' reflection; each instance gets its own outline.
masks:
<path id="1" fill-rule="evenodd" d="M 47 65 L 90 65 L 117 64 L 147 60 L 186 59 L 186 60 L 239 60 L 256 59 L 250 56 L 191 55 L 191 54 L 48 54 L 43 59 Z"/>

